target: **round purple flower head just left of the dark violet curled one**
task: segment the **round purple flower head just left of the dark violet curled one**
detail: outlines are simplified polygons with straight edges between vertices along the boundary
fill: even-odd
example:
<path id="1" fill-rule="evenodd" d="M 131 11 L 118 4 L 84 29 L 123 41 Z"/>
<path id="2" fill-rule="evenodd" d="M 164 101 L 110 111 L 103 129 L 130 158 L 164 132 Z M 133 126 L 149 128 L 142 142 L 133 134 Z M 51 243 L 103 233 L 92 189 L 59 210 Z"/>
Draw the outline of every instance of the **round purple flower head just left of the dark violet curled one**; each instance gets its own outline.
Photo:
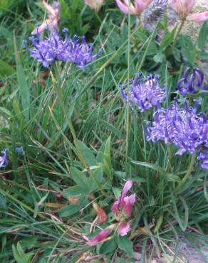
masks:
<path id="1" fill-rule="evenodd" d="M 125 102 L 128 101 L 130 107 L 134 105 L 144 112 L 151 107 L 158 106 L 160 103 L 164 102 L 166 94 L 165 90 L 160 87 L 159 76 L 149 75 L 148 77 L 142 78 L 140 73 L 137 73 L 135 79 L 130 80 L 129 95 L 125 92 L 125 88 L 128 85 L 122 85 L 121 95 L 123 96 Z"/>

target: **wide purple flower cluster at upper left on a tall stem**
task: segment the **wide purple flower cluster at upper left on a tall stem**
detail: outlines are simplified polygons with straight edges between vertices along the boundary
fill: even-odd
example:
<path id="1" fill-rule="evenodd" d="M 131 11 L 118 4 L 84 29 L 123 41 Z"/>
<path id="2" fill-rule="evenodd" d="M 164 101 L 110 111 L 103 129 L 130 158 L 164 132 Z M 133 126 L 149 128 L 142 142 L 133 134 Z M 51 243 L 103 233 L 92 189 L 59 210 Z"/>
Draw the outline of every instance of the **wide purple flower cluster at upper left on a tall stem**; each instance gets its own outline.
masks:
<path id="1" fill-rule="evenodd" d="M 93 45 L 88 45 L 85 38 L 74 36 L 68 39 L 68 30 L 63 29 L 65 38 L 59 36 L 58 31 L 54 28 L 48 38 L 43 39 L 39 34 L 37 38 L 29 38 L 33 48 L 28 48 L 27 41 L 24 45 L 29 51 L 32 58 L 43 64 L 44 68 L 48 68 L 55 60 L 68 61 L 75 63 L 78 68 L 84 68 L 90 61 L 95 60 L 100 52 L 93 55 Z"/>

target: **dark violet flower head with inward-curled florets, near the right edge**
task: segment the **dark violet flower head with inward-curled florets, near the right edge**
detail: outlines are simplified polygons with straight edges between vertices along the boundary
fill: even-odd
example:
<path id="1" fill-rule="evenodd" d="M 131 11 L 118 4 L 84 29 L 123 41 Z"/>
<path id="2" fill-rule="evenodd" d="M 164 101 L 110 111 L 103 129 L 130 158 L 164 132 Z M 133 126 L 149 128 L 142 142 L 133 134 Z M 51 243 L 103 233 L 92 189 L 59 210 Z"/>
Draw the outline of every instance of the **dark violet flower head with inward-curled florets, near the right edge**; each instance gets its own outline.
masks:
<path id="1" fill-rule="evenodd" d="M 189 74 L 191 73 L 191 74 Z M 208 86 L 203 87 L 204 74 L 199 68 L 186 68 L 182 75 L 182 79 L 177 82 L 177 90 L 182 96 L 193 94 L 199 90 L 208 90 Z"/>

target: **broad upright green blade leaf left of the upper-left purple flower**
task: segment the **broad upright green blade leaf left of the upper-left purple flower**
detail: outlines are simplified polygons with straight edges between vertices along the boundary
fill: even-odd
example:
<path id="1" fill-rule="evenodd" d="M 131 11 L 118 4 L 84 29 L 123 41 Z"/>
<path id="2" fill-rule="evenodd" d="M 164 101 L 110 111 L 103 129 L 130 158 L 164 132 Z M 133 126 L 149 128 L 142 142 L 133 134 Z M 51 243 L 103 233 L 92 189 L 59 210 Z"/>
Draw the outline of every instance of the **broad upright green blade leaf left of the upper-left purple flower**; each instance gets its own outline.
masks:
<path id="1" fill-rule="evenodd" d="M 21 61 L 19 58 L 19 53 L 16 47 L 16 38 L 14 36 L 14 53 L 16 59 L 16 74 L 17 81 L 19 86 L 19 92 L 21 95 L 21 106 L 24 110 L 24 116 L 26 121 L 29 120 L 29 107 L 30 107 L 30 89 L 26 83 L 26 75 L 24 74 L 24 69 L 21 65 Z"/>

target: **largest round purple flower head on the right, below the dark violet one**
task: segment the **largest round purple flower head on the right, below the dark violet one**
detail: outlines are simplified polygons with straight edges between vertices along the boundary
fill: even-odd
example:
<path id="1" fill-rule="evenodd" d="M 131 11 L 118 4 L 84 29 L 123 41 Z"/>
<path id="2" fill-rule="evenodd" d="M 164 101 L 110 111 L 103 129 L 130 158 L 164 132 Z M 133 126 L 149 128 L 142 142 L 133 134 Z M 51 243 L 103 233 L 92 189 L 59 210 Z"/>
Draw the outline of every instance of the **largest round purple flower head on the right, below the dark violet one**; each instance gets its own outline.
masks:
<path id="1" fill-rule="evenodd" d="M 147 140 L 164 140 L 179 148 L 177 154 L 194 154 L 200 146 L 207 145 L 208 120 L 197 114 L 196 107 L 183 108 L 172 104 L 168 109 L 158 109 L 152 127 L 147 127 Z"/>

